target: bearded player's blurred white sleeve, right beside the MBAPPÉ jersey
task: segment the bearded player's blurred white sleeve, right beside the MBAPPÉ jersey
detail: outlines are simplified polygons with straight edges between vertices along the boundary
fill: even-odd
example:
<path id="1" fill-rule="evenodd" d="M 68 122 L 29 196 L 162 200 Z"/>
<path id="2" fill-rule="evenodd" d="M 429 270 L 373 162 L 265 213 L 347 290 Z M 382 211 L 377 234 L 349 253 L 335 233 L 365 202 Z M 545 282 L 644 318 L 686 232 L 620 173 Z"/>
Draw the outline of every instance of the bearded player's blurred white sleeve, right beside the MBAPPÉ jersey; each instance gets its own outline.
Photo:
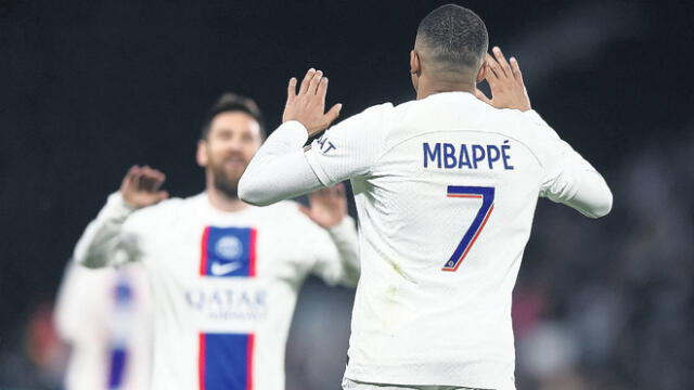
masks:
<path id="1" fill-rule="evenodd" d="M 359 238 L 355 220 L 345 216 L 342 222 L 326 230 L 327 236 L 307 237 L 312 250 L 311 272 L 329 285 L 355 287 L 359 281 Z"/>

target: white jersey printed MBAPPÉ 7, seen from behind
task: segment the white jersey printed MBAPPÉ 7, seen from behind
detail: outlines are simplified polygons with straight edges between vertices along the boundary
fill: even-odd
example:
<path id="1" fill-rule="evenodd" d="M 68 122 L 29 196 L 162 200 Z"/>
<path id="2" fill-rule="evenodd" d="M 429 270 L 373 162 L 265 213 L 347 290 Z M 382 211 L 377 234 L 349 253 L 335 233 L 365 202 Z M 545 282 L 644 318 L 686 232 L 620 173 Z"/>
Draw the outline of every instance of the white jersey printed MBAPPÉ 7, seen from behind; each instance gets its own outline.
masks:
<path id="1" fill-rule="evenodd" d="M 283 127 L 268 150 L 306 139 L 300 123 Z M 571 206 L 597 217 L 612 204 L 602 177 L 535 112 L 465 92 L 371 107 L 305 156 L 323 185 L 351 180 L 359 212 L 345 376 L 513 389 L 512 290 L 538 196 L 570 204 L 592 186 L 603 209 Z"/>

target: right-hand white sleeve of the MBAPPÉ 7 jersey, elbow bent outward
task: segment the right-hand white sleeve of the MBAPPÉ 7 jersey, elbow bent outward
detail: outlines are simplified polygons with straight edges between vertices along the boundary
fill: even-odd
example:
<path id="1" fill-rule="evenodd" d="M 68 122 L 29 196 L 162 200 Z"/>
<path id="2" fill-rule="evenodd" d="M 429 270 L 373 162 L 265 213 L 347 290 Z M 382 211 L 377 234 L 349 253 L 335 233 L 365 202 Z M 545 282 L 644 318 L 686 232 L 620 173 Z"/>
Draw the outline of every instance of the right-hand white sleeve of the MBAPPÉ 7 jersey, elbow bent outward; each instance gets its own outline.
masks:
<path id="1" fill-rule="evenodd" d="M 586 217 L 600 218 L 612 209 L 613 196 L 603 177 L 535 112 L 527 115 L 544 134 L 544 179 L 540 196 L 567 205 Z"/>

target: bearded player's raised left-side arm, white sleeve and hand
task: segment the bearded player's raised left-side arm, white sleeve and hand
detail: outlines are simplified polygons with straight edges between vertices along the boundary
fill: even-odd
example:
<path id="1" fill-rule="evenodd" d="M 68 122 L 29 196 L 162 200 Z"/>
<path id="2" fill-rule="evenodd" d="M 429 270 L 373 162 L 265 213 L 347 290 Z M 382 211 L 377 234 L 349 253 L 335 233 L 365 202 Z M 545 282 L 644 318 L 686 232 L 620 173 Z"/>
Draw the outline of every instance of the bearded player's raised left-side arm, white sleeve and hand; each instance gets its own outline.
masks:
<path id="1" fill-rule="evenodd" d="M 160 186 L 164 173 L 150 167 L 132 167 L 126 173 L 117 193 L 108 196 L 82 233 L 75 247 L 75 261 L 88 268 L 102 268 L 137 261 L 137 236 L 124 225 L 136 210 L 154 205 L 168 197 Z"/>

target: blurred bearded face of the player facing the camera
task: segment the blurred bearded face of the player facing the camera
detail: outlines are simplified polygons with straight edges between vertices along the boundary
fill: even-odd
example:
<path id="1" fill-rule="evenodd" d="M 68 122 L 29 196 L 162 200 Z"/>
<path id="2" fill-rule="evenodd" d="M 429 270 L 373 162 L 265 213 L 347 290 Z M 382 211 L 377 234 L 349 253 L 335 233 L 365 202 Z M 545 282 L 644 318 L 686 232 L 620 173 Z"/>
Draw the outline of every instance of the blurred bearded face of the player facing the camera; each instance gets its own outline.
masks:
<path id="1" fill-rule="evenodd" d="M 213 119 L 207 139 L 198 143 L 197 162 L 207 168 L 215 187 L 236 198 L 239 180 L 261 143 L 260 127 L 250 115 L 221 113 Z"/>

